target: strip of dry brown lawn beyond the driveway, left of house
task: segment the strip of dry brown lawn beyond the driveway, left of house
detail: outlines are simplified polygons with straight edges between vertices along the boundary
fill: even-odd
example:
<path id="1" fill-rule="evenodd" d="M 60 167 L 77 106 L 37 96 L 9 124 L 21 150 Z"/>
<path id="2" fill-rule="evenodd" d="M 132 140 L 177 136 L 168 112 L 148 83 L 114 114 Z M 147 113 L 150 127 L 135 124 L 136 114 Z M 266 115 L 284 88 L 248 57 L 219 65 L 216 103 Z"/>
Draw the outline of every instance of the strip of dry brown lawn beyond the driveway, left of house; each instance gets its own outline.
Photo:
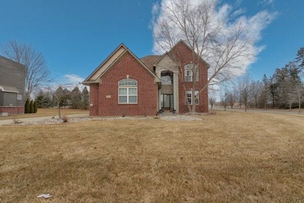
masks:
<path id="1" fill-rule="evenodd" d="M 71 114 L 88 114 L 88 110 L 82 109 L 60 109 L 61 115 L 71 115 Z M 42 117 L 42 116 L 57 116 L 58 110 L 53 109 L 38 109 L 35 114 L 21 114 L 16 116 L 0 116 L 0 120 L 13 119 L 13 118 L 33 118 L 33 117 Z"/>

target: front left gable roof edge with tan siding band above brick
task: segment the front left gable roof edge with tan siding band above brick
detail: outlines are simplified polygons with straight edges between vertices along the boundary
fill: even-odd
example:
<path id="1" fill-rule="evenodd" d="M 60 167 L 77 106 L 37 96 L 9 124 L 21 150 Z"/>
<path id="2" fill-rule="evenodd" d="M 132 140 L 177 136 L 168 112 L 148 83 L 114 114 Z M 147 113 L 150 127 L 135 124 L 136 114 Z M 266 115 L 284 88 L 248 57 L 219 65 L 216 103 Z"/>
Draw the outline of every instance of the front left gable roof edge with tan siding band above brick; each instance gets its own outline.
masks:
<path id="1" fill-rule="evenodd" d="M 89 75 L 89 77 L 86 78 L 83 84 L 99 83 L 100 78 L 126 53 L 130 53 L 151 75 L 153 75 L 155 77 L 155 82 L 161 81 L 153 70 L 151 71 L 141 60 L 137 58 L 137 56 L 135 56 L 135 54 L 130 51 L 129 48 L 122 43 L 93 71 L 93 73 Z"/>

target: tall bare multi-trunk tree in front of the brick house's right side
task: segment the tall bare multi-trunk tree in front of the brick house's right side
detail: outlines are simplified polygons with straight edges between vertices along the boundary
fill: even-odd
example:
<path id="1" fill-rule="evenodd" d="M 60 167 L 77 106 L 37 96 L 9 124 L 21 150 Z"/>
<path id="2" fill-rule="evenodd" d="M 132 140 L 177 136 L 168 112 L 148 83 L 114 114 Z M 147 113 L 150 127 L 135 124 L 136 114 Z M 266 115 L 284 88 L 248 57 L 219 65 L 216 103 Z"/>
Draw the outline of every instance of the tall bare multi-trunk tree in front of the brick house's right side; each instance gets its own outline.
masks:
<path id="1" fill-rule="evenodd" d="M 253 56 L 253 42 L 247 35 L 245 23 L 239 19 L 233 28 L 227 29 L 224 21 L 218 19 L 214 13 L 216 1 L 202 1 L 199 6 L 193 6 L 191 1 L 170 0 L 165 6 L 166 18 L 160 18 L 154 29 L 154 37 L 159 47 L 164 51 L 171 50 L 182 39 L 192 51 L 193 65 L 188 69 L 194 78 L 197 73 L 204 71 L 199 70 L 203 68 L 199 65 L 202 59 L 208 59 L 211 65 L 207 83 L 197 93 L 196 80 L 191 81 L 193 101 L 208 88 L 208 85 L 220 84 L 231 79 L 236 70 L 243 67 L 242 60 Z M 178 64 L 179 79 L 185 90 L 182 54 L 169 54 Z M 189 112 L 195 113 L 196 105 L 187 105 Z"/>

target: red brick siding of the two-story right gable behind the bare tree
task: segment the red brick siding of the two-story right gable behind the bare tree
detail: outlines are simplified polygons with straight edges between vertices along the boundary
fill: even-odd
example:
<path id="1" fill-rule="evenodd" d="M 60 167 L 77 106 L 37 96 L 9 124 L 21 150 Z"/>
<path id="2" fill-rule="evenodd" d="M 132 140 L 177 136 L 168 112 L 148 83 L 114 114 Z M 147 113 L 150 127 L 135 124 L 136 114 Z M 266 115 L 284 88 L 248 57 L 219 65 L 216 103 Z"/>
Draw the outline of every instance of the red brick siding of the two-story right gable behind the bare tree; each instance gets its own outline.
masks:
<path id="1" fill-rule="evenodd" d="M 176 45 L 173 50 L 173 54 L 177 57 L 182 56 L 182 69 L 186 64 L 193 61 L 192 51 L 183 43 Z M 208 67 L 207 64 L 201 61 L 199 64 L 199 81 L 196 82 L 195 90 L 201 90 L 208 81 Z M 185 88 L 187 91 L 192 89 L 192 82 L 185 82 Z M 185 92 L 183 90 L 183 84 L 178 81 L 178 98 L 179 98 L 179 113 L 189 112 L 187 105 L 185 104 Z M 199 105 L 196 105 L 196 112 L 207 113 L 208 112 L 208 89 L 206 88 L 199 95 Z"/>

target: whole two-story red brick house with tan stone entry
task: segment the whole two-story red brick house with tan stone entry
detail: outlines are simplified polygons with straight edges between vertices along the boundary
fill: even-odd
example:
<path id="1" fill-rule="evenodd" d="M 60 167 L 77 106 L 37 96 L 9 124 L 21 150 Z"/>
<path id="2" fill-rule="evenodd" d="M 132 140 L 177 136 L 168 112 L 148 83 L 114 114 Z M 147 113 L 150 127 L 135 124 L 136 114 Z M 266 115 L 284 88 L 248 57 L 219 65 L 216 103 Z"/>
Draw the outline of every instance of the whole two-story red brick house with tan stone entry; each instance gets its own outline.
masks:
<path id="1" fill-rule="evenodd" d="M 185 90 L 172 57 L 182 55 Z M 90 86 L 90 116 L 156 115 L 160 110 L 187 113 L 186 99 L 192 105 L 192 80 L 198 91 L 207 83 L 209 65 L 199 60 L 196 77 L 187 74 L 192 50 L 179 41 L 163 55 L 137 58 L 124 44 L 116 48 L 83 82 Z M 186 91 L 186 92 L 185 92 Z M 194 104 L 193 104 L 194 105 Z M 208 90 L 195 101 L 197 112 L 208 112 Z"/>

